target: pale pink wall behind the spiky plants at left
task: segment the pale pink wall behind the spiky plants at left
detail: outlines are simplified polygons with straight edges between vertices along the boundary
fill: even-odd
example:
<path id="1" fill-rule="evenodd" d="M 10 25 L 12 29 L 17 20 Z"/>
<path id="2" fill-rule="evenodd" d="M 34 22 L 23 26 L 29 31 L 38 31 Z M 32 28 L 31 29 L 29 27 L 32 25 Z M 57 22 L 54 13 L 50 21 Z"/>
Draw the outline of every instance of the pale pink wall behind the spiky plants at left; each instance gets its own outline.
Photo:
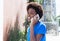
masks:
<path id="1" fill-rule="evenodd" d="M 14 25 L 16 14 L 19 13 L 19 23 L 23 29 L 22 23 L 26 14 L 26 0 L 4 0 L 4 27 L 3 40 L 7 41 L 10 23 Z"/>

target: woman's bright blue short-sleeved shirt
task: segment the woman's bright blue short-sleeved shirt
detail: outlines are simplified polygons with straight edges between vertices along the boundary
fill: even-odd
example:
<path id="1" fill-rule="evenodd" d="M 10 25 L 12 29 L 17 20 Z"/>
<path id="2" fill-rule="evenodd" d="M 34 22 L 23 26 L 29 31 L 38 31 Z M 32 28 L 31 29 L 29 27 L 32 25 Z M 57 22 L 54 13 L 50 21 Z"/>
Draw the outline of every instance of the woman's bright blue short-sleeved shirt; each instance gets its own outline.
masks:
<path id="1" fill-rule="evenodd" d="M 42 34 L 42 38 L 40 39 L 40 41 L 46 41 L 46 26 L 44 23 L 38 21 L 35 26 L 34 26 L 34 36 L 36 36 L 37 34 Z M 28 27 L 27 29 L 27 41 L 30 41 L 30 27 Z"/>

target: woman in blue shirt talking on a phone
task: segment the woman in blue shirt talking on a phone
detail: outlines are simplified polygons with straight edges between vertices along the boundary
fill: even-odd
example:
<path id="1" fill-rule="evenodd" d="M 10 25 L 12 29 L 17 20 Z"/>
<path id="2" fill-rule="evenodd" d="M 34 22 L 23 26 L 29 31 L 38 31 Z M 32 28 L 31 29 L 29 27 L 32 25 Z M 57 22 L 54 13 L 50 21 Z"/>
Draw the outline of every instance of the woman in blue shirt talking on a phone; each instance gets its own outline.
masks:
<path id="1" fill-rule="evenodd" d="M 31 21 L 27 29 L 27 41 L 46 41 L 46 26 L 39 21 L 43 16 L 41 5 L 30 2 L 27 6 L 27 15 Z M 39 18 L 37 15 L 39 15 Z"/>

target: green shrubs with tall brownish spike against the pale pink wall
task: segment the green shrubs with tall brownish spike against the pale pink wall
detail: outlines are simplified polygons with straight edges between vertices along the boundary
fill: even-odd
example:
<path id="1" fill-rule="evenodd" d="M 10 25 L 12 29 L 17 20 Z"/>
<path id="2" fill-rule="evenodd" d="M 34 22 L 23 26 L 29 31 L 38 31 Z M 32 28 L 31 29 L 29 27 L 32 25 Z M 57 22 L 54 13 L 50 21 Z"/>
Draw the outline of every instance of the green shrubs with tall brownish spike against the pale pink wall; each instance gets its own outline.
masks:
<path id="1" fill-rule="evenodd" d="M 9 39 L 8 41 L 26 41 L 25 32 L 22 32 L 19 28 L 18 15 L 14 27 L 10 26 Z"/>

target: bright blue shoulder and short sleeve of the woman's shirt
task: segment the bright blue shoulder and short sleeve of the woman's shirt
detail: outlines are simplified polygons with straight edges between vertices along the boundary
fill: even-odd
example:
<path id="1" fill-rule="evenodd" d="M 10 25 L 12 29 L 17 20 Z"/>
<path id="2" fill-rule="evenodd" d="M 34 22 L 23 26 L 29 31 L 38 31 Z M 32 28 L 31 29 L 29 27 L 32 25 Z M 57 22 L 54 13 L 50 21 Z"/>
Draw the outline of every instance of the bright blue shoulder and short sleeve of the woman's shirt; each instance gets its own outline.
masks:
<path id="1" fill-rule="evenodd" d="M 43 22 L 39 21 L 34 30 L 35 33 L 44 34 L 46 32 L 46 25 Z"/>

